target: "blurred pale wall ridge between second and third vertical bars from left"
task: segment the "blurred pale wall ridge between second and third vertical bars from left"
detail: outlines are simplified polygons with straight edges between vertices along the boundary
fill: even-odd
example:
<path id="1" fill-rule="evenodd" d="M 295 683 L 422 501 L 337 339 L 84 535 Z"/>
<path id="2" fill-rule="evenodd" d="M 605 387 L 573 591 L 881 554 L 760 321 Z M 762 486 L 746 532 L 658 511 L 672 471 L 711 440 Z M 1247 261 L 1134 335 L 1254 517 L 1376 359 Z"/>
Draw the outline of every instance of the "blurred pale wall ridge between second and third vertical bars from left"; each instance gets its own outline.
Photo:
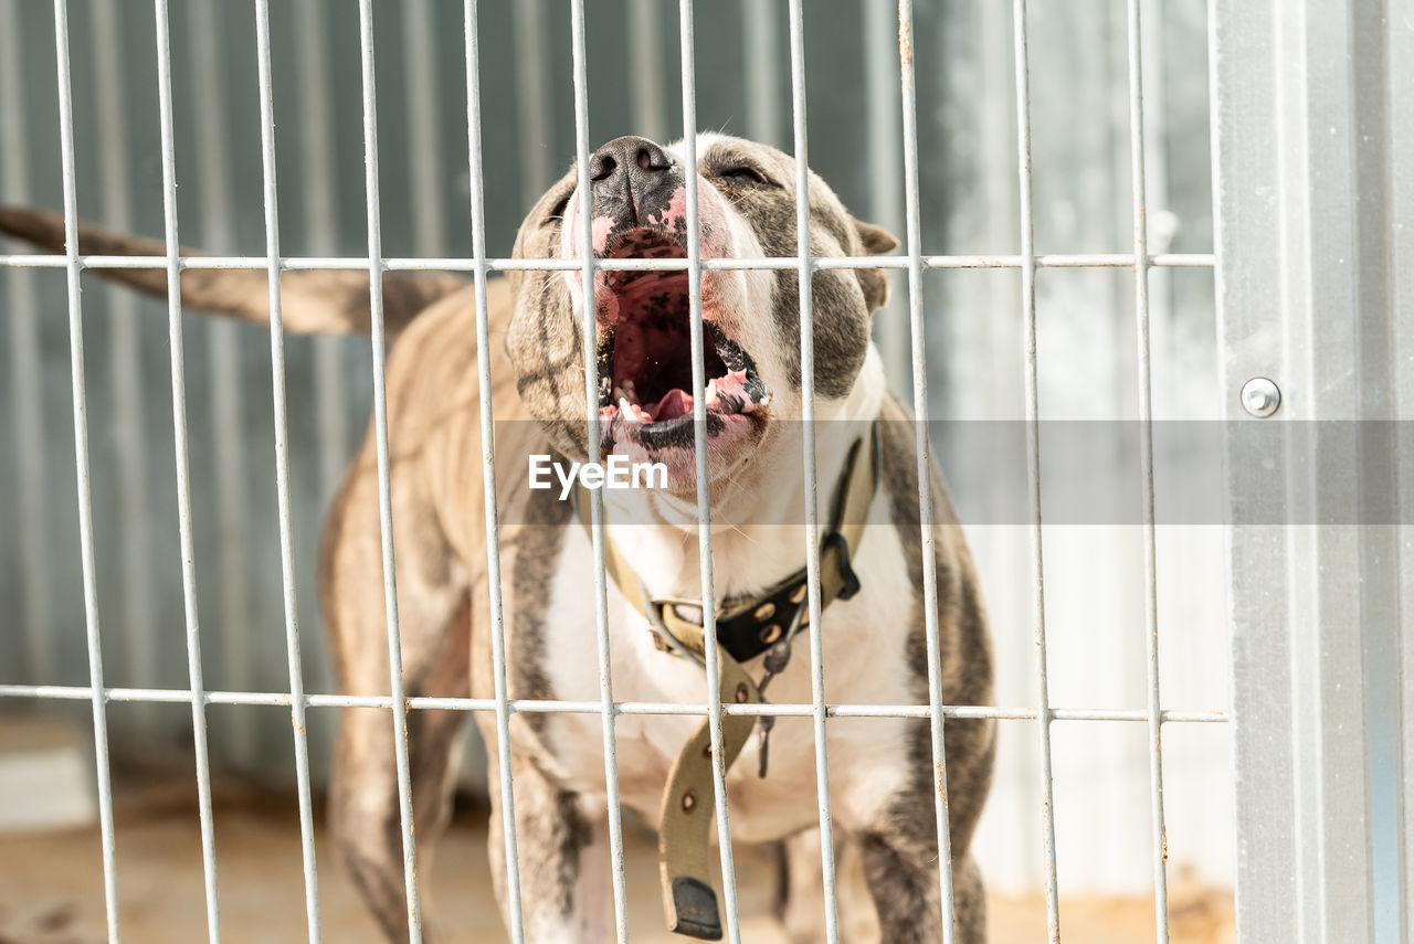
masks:
<path id="1" fill-rule="evenodd" d="M 110 4 L 113 0 L 106 0 Z M 230 140 L 222 83 L 226 64 L 221 51 L 221 21 L 216 0 L 199 0 L 191 7 L 192 71 L 197 99 L 192 120 L 197 124 L 197 161 L 201 170 L 202 240 L 212 252 L 236 252 L 235 213 L 230 198 Z M 122 124 L 117 119 L 116 124 Z M 105 140 L 107 140 L 105 137 Z M 132 298 L 132 293 L 122 293 Z M 206 353 L 211 363 L 211 447 L 212 476 L 216 490 L 216 599 L 221 608 L 218 633 L 222 646 L 223 683 L 232 688 L 255 684 L 250 637 L 250 554 L 249 507 L 242 439 L 246 435 L 245 390 L 240 384 L 240 326 L 228 318 L 212 318 L 205 325 Z M 235 718 L 235 755 L 250 760 L 257 750 L 256 718 L 239 712 Z"/>

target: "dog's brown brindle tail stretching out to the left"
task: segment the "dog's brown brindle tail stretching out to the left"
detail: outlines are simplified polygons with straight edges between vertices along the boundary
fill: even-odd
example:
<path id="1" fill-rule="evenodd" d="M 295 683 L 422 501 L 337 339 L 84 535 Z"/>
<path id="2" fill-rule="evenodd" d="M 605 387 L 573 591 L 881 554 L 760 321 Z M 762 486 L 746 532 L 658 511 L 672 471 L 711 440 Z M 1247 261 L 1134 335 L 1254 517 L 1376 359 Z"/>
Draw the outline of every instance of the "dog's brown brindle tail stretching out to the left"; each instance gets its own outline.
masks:
<path id="1" fill-rule="evenodd" d="M 37 209 L 0 206 L 0 235 L 16 236 L 65 252 L 64 218 Z M 165 256 L 160 239 L 115 233 L 79 225 L 79 252 L 90 256 Z M 182 256 L 202 256 L 189 249 Z M 167 298 L 165 269 L 95 269 L 105 278 Z M 450 273 L 383 273 L 383 324 L 397 331 L 417 312 L 467 281 Z M 286 331 L 294 334 L 368 334 L 370 305 L 368 273 L 358 270 L 303 270 L 280 276 L 280 312 Z M 252 324 L 270 324 L 270 277 L 263 269 L 184 269 L 181 301 L 191 308 L 229 315 Z"/>

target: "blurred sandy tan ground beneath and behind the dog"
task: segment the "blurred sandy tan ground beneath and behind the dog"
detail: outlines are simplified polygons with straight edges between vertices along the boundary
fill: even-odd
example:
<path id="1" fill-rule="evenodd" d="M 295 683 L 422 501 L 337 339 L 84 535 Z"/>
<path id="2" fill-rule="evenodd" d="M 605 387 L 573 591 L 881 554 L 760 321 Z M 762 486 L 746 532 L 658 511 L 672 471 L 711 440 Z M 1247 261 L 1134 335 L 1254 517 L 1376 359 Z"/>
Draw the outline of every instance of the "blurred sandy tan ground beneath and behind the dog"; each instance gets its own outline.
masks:
<path id="1" fill-rule="evenodd" d="M 116 803 L 117 879 L 127 944 L 206 940 L 201 839 L 187 783 L 122 793 Z M 222 940 L 296 944 L 307 940 L 298 821 L 290 796 L 219 796 L 215 814 Z M 358 893 L 337 868 L 320 824 L 320 913 L 325 941 L 379 944 Z M 485 813 L 457 817 L 430 878 L 441 943 L 505 941 L 485 856 Z M 629 931 L 643 944 L 679 944 L 659 913 L 652 837 L 632 831 L 628 845 Z M 769 917 L 769 858 L 737 854 L 742 940 L 782 943 Z M 1230 895 L 1174 880 L 1174 944 L 1233 941 Z M 1039 896 L 993 897 L 993 944 L 1046 940 Z M 1140 944 L 1154 940 L 1145 899 L 1066 899 L 1063 940 Z M 105 940 L 102 869 L 93 827 L 44 834 L 0 834 L 0 944 L 98 944 Z"/>

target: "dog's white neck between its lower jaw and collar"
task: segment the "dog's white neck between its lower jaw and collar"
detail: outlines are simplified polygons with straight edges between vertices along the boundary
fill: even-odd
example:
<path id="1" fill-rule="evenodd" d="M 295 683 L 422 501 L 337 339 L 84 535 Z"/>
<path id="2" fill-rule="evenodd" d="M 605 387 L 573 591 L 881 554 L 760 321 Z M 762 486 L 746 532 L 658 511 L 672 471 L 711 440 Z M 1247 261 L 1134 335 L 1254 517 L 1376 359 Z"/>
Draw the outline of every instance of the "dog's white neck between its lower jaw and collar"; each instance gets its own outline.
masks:
<path id="1" fill-rule="evenodd" d="M 882 363 L 871 346 L 850 396 L 817 406 L 817 524 L 822 531 L 829 526 L 831 499 L 844 476 L 850 448 L 878 417 L 884 393 Z M 761 445 L 752 456 L 754 469 L 741 475 L 740 482 L 714 483 L 713 588 L 718 603 L 766 586 L 805 565 L 803 439 L 800 423 L 788 423 L 789 430 L 771 435 Z M 772 469 L 782 471 L 773 473 Z M 693 495 L 605 492 L 605 516 L 611 540 L 655 598 L 701 594 Z"/>

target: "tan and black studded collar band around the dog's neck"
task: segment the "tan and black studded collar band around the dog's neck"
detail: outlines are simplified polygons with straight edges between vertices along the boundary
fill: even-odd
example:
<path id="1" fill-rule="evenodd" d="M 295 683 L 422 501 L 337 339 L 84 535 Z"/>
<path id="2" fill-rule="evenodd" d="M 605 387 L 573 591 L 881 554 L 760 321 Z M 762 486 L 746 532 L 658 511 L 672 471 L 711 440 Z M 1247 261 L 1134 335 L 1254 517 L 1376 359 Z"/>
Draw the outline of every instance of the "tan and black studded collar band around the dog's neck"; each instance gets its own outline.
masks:
<path id="1" fill-rule="evenodd" d="M 853 561 L 864 537 L 864 523 L 878 490 L 878 421 L 851 448 L 844 475 L 836 488 L 830 530 L 820 541 L 820 609 L 836 599 L 850 599 L 860 591 Z M 590 527 L 590 503 L 575 495 L 580 521 Z M 628 558 L 605 536 L 604 571 L 655 629 L 653 642 L 697 663 L 703 661 L 703 618 L 700 599 L 652 598 Z M 806 602 L 807 571 L 800 568 L 785 579 L 751 596 L 728 599 L 717 610 L 717 643 L 738 663 L 762 654 L 782 636 L 809 626 Z"/>

